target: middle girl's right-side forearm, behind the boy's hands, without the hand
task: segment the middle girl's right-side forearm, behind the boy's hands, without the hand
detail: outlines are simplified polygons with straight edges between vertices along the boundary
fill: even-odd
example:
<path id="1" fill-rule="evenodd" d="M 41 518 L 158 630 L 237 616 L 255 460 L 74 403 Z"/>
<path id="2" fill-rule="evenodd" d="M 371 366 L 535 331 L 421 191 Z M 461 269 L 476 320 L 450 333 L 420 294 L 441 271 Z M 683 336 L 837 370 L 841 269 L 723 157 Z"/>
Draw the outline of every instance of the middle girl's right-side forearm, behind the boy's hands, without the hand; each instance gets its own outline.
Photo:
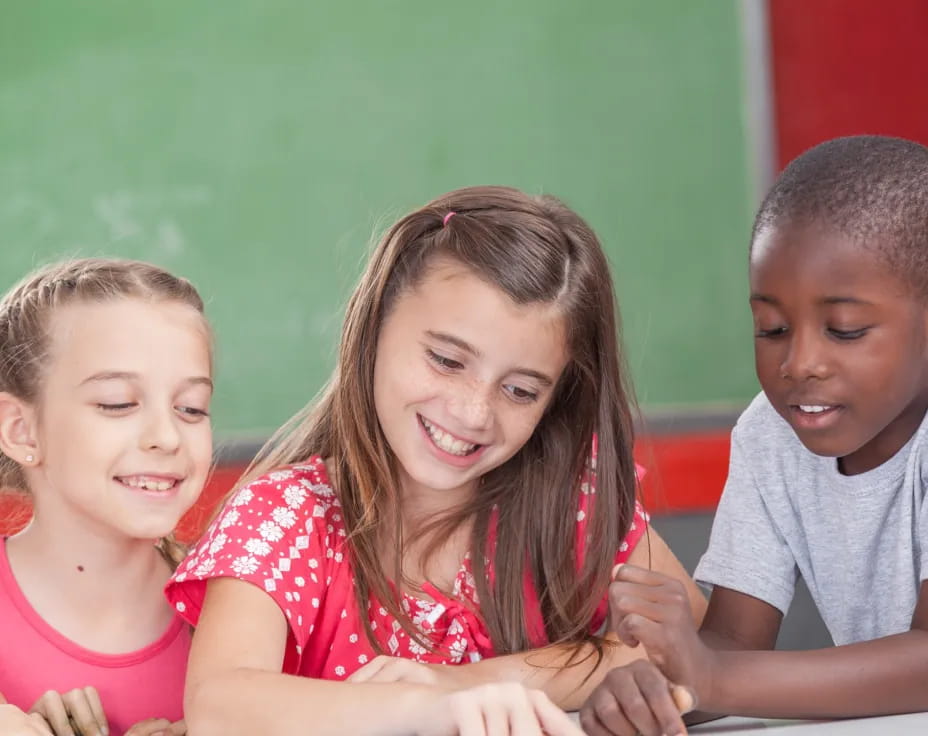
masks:
<path id="1" fill-rule="evenodd" d="M 601 659 L 591 644 L 575 651 L 572 646 L 550 646 L 460 665 L 459 669 L 467 684 L 520 682 L 544 691 L 564 710 L 577 710 L 609 670 L 647 656 L 643 647 L 631 648 L 611 639 Z"/>

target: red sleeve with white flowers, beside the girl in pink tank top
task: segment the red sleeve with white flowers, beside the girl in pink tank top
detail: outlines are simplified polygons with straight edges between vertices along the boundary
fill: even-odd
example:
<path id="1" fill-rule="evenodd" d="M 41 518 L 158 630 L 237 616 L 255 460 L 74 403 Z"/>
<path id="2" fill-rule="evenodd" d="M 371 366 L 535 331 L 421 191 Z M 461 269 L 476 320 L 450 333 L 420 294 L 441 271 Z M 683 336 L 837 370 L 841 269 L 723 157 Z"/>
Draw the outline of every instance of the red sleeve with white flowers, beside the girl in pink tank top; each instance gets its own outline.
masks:
<path id="1" fill-rule="evenodd" d="M 209 580 L 251 583 L 280 607 L 302 650 L 324 599 L 326 567 L 342 556 L 326 524 L 334 501 L 314 488 L 283 470 L 237 491 L 168 583 L 171 605 L 196 626 Z"/>

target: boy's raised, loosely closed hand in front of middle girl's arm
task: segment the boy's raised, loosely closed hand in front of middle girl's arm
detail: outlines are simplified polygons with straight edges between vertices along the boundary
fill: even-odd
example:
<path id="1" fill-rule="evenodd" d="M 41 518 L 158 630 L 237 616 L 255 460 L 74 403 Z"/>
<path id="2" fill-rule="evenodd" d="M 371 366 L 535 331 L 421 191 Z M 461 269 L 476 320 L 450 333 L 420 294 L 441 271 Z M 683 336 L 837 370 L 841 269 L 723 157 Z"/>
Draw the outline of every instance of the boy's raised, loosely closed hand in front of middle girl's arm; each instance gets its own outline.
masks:
<path id="1" fill-rule="evenodd" d="M 678 580 L 621 565 L 609 586 L 611 626 L 628 646 L 643 644 L 664 676 L 688 687 L 701 704 L 712 700 L 715 653 L 703 644 L 686 589 Z"/>

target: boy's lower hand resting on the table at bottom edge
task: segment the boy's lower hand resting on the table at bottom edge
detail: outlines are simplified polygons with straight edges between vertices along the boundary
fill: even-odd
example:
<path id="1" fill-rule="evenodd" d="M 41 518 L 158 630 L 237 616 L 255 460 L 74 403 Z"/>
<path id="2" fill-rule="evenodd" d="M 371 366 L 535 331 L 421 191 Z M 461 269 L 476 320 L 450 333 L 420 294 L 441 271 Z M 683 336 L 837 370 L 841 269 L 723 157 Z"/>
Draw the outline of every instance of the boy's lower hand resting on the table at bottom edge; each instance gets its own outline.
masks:
<path id="1" fill-rule="evenodd" d="M 695 704 L 692 692 L 639 659 L 603 678 L 580 709 L 580 725 L 588 736 L 684 734 L 681 715 Z"/>

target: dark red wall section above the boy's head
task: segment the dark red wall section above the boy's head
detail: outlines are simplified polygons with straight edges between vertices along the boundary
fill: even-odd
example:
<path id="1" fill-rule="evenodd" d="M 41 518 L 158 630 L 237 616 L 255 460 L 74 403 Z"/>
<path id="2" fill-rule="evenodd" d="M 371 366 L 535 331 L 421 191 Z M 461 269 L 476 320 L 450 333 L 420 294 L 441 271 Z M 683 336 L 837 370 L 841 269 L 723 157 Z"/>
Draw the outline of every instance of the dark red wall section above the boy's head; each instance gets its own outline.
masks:
<path id="1" fill-rule="evenodd" d="M 780 168 L 859 133 L 928 144 L 928 2 L 769 0 Z"/>

